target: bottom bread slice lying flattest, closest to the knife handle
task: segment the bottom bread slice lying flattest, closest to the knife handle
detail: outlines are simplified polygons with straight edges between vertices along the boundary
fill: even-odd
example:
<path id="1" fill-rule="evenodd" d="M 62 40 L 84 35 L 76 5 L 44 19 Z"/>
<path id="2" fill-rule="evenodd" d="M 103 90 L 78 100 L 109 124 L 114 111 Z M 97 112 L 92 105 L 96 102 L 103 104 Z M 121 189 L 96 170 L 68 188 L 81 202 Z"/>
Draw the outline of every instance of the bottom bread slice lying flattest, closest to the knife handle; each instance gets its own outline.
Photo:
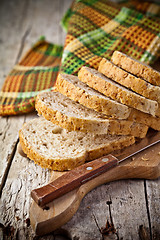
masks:
<path id="1" fill-rule="evenodd" d="M 69 132 L 41 117 L 25 123 L 19 137 L 24 153 L 31 160 L 58 171 L 73 169 L 135 142 L 133 136 Z"/>

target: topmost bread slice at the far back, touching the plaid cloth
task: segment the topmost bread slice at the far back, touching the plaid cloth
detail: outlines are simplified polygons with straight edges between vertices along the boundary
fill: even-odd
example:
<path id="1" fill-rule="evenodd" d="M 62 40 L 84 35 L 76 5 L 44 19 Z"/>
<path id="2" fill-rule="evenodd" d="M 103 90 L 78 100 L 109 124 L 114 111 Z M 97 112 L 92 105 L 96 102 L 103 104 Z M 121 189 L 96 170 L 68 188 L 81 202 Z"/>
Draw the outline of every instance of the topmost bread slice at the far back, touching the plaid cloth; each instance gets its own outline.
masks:
<path id="1" fill-rule="evenodd" d="M 119 51 L 115 51 L 113 53 L 111 61 L 127 72 L 145 79 L 153 85 L 160 86 L 160 72 L 154 70 L 152 67 L 139 62 Z"/>

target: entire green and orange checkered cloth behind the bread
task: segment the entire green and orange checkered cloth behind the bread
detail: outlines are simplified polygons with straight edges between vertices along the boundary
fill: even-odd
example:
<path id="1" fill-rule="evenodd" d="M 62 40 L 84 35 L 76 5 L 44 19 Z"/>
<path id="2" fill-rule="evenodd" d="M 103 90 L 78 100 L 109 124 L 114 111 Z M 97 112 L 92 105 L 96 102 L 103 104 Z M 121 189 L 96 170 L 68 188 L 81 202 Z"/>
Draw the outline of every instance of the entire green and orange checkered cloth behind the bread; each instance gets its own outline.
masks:
<path id="1" fill-rule="evenodd" d="M 63 18 L 64 49 L 38 41 L 7 76 L 0 92 L 0 115 L 34 110 L 39 92 L 53 89 L 58 72 L 98 68 L 103 57 L 122 51 L 147 64 L 160 56 L 160 6 L 139 1 L 75 0 Z M 61 59 L 62 57 L 62 59 Z"/>

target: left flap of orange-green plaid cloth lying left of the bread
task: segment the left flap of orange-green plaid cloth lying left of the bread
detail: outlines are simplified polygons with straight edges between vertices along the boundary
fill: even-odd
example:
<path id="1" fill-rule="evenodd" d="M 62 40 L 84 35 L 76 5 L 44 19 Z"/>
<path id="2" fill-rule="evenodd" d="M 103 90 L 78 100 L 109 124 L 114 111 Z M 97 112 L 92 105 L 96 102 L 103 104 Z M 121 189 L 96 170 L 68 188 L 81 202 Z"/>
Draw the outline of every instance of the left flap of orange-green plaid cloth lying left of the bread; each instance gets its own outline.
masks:
<path id="1" fill-rule="evenodd" d="M 14 66 L 0 91 L 0 115 L 34 110 L 39 92 L 50 91 L 57 78 L 63 47 L 38 41 Z"/>

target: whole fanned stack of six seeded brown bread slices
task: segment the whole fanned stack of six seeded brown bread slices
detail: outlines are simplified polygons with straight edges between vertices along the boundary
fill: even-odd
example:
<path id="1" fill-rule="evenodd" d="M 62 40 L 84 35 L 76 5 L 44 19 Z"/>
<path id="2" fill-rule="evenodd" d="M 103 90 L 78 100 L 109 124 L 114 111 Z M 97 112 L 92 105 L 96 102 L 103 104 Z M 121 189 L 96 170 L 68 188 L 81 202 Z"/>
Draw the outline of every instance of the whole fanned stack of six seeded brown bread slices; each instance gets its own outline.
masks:
<path id="1" fill-rule="evenodd" d="M 41 117 L 20 130 L 22 149 L 35 163 L 59 171 L 123 149 L 149 127 L 160 130 L 159 83 L 160 73 L 118 51 L 111 62 L 102 59 L 98 71 L 60 73 L 55 91 L 37 96 Z"/>

